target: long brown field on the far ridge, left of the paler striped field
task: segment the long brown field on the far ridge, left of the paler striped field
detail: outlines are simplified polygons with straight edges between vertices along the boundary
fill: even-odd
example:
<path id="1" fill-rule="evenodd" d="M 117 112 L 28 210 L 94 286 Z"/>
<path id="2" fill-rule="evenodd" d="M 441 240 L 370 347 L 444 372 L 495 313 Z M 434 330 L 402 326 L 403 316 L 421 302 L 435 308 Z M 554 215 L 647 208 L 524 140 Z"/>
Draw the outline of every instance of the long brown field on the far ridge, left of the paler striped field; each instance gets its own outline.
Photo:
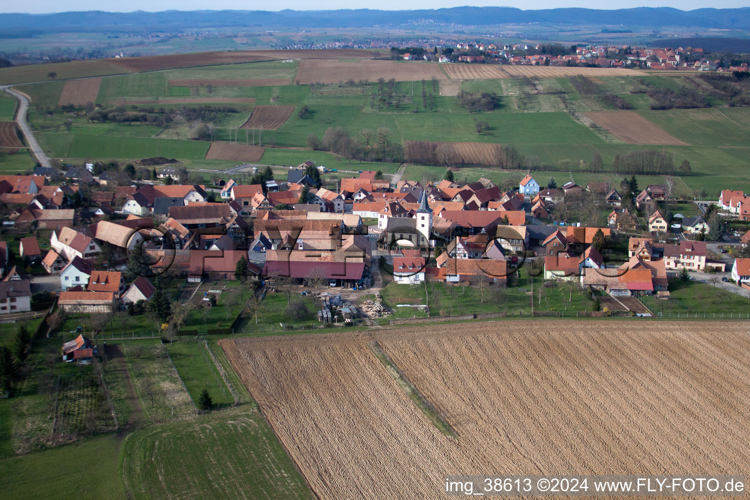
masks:
<path id="1" fill-rule="evenodd" d="M 425 61 L 380 61 L 365 59 L 362 61 L 321 61 L 302 59 L 297 67 L 295 80 L 299 83 L 338 83 L 348 79 L 367 79 L 371 82 L 378 78 L 386 80 L 395 78 L 398 82 L 412 82 L 422 79 L 445 79 L 446 75 L 440 66 Z"/>

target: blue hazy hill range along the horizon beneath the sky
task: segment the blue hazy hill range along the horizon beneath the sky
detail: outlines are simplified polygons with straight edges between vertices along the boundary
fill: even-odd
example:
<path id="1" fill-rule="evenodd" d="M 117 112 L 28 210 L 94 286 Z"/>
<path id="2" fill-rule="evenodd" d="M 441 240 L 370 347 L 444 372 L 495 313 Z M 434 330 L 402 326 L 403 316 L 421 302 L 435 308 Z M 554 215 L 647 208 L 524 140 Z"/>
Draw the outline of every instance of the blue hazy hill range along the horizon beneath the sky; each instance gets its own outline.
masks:
<path id="1" fill-rule="evenodd" d="M 111 13 L 101 10 L 52 14 L 5 13 L 0 33 L 5 37 L 25 30 L 142 31 L 164 28 L 288 27 L 367 28 L 408 25 L 429 19 L 453 25 L 502 25 L 539 22 L 553 25 L 685 26 L 694 28 L 745 28 L 750 7 L 736 9 L 678 10 L 670 7 L 637 7 L 619 10 L 561 8 L 520 10 L 512 7 L 452 7 L 436 10 L 165 10 L 163 12 Z M 0 34 L 2 37 L 3 34 Z"/>

